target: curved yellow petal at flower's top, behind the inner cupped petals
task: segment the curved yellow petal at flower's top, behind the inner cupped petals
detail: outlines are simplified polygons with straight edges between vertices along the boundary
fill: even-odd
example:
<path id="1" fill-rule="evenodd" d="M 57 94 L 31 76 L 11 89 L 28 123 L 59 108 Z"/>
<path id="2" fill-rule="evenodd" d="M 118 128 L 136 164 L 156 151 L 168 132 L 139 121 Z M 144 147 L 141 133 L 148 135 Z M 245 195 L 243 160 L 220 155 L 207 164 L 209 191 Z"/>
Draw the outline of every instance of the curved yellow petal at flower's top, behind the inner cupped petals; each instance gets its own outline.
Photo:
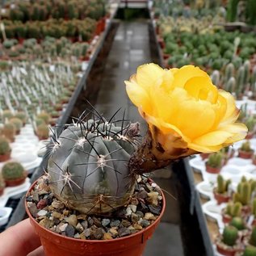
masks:
<path id="1" fill-rule="evenodd" d="M 199 67 L 194 65 L 184 65 L 181 69 L 174 72 L 174 83 L 177 87 L 183 87 L 190 78 L 205 77 L 209 78 L 208 74 Z"/>

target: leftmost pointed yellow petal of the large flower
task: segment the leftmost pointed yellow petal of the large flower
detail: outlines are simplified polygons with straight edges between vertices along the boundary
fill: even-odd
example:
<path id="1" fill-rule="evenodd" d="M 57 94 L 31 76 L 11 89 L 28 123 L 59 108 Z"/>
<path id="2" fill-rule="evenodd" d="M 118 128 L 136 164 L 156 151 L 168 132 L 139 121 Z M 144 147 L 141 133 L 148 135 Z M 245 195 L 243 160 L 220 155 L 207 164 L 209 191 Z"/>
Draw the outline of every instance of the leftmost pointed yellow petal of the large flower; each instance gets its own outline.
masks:
<path id="1" fill-rule="evenodd" d="M 125 81 L 128 97 L 136 107 L 141 107 L 146 113 L 150 113 L 152 106 L 149 95 L 146 91 L 138 86 L 135 82 Z"/>

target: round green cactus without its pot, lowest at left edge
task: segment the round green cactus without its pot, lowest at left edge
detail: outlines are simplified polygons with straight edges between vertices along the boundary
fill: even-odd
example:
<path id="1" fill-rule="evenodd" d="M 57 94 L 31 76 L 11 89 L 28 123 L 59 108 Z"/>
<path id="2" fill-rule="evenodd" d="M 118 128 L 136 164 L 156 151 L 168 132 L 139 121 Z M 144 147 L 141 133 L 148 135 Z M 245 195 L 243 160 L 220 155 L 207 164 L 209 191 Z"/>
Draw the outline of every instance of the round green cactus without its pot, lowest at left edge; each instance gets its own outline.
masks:
<path id="1" fill-rule="evenodd" d="M 5 180 L 14 180 L 17 178 L 23 178 L 25 176 L 25 170 L 19 162 L 6 162 L 2 166 L 2 177 Z"/>

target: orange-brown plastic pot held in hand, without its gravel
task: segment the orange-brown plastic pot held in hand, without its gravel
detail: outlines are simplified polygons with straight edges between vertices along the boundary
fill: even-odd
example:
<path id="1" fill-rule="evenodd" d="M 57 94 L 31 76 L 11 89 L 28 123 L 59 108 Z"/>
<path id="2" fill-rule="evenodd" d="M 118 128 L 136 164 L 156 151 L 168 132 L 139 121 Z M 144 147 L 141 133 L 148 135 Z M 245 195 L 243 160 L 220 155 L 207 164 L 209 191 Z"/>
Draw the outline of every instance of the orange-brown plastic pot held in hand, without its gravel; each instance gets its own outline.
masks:
<path id="1" fill-rule="evenodd" d="M 29 192 L 35 185 L 36 182 L 32 184 L 27 195 L 29 195 Z M 25 208 L 31 225 L 39 235 L 42 246 L 44 246 L 45 256 L 141 256 L 143 250 L 145 250 L 147 240 L 152 237 L 154 230 L 162 218 L 166 208 L 166 199 L 162 194 L 162 212 L 152 225 L 128 237 L 113 240 L 81 240 L 61 236 L 39 225 L 33 216 L 31 216 L 26 202 Z"/>

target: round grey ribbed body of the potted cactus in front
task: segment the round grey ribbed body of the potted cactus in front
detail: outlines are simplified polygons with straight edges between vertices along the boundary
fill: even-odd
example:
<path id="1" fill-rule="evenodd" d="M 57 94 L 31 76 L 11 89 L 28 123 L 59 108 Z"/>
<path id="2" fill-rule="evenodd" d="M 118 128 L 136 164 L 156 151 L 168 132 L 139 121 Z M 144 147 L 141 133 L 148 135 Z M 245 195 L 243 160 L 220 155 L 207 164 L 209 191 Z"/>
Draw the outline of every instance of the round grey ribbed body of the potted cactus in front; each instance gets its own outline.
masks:
<path id="1" fill-rule="evenodd" d="M 138 124 L 124 128 L 94 120 L 67 127 L 48 159 L 57 199 L 86 214 L 107 214 L 127 204 L 136 183 L 128 161 L 138 132 Z"/>

